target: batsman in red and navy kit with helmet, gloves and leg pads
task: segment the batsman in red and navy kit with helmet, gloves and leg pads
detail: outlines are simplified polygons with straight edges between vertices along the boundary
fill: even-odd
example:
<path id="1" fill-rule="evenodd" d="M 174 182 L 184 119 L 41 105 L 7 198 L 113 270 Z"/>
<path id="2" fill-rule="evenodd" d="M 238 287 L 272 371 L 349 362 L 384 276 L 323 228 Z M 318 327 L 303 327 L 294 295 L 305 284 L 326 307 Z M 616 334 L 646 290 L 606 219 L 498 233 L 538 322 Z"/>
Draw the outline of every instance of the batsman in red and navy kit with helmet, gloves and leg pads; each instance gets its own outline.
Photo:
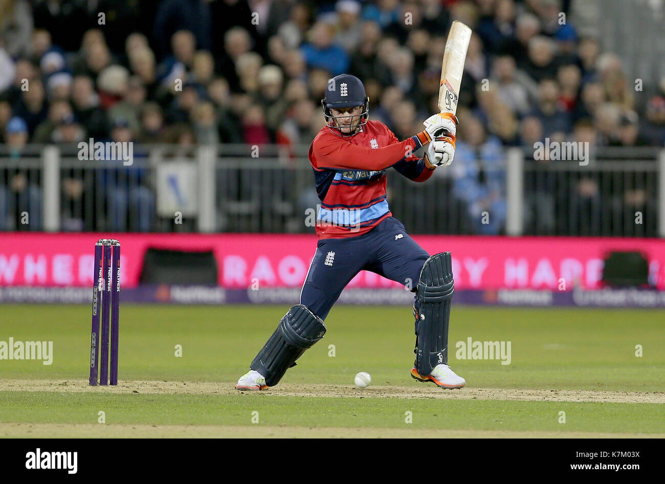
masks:
<path id="1" fill-rule="evenodd" d="M 430 256 L 390 213 L 388 168 L 425 182 L 455 154 L 457 118 L 434 114 L 425 129 L 400 142 L 382 122 L 370 121 L 360 79 L 340 74 L 321 100 L 326 126 L 309 148 L 321 208 L 319 242 L 299 304 L 277 325 L 237 390 L 265 390 L 279 383 L 307 348 L 323 338 L 326 316 L 342 289 L 360 271 L 372 271 L 415 293 L 416 360 L 411 376 L 442 388 L 466 381 L 448 366 L 448 324 L 454 291 L 450 252 Z M 424 158 L 413 152 L 427 145 Z"/>

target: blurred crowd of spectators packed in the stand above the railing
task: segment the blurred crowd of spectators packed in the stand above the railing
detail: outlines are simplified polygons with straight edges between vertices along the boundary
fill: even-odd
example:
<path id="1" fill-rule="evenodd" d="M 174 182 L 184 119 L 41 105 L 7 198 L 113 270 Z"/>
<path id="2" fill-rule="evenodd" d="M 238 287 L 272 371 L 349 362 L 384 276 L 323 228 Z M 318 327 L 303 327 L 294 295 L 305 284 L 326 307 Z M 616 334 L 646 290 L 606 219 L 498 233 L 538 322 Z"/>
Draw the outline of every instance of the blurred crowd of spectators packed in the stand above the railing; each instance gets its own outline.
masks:
<path id="1" fill-rule="evenodd" d="M 10 150 L 90 137 L 309 144 L 327 81 L 342 72 L 364 82 L 370 118 L 404 139 L 438 111 L 459 19 L 473 36 L 458 110 L 459 159 L 470 161 L 458 164 L 456 193 L 474 217 L 505 213 L 505 146 L 665 144 L 665 79 L 636 90 L 617 55 L 578 34 L 575 3 L 7 0 L 0 139 Z M 502 218 L 479 231 L 497 233 Z"/>

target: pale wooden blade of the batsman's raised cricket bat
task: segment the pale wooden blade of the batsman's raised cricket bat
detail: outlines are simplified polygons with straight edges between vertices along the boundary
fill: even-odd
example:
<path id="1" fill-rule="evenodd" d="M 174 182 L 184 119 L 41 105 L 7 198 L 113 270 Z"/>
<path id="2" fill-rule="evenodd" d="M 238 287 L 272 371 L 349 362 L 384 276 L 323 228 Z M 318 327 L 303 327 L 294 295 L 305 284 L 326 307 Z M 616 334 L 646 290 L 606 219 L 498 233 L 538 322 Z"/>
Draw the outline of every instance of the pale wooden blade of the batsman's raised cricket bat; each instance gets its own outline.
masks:
<path id="1" fill-rule="evenodd" d="M 439 109 L 441 112 L 457 112 L 460 84 L 466 51 L 469 48 L 471 29 L 459 21 L 454 21 L 448 33 L 444 62 L 441 66 L 441 84 L 439 86 Z"/>

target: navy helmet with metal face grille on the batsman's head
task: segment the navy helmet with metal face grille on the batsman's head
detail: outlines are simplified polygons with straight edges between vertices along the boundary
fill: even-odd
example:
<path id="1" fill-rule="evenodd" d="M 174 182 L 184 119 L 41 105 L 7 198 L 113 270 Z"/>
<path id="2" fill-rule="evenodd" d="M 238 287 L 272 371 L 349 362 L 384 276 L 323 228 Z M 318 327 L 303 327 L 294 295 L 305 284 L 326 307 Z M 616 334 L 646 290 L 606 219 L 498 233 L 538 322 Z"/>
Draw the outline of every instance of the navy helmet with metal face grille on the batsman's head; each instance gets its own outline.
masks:
<path id="1" fill-rule="evenodd" d="M 367 124 L 370 112 L 370 98 L 365 94 L 365 86 L 356 76 L 339 74 L 328 81 L 325 98 L 321 100 L 326 124 L 340 136 L 353 136 L 360 126 Z M 354 108 L 362 106 L 362 112 L 356 116 L 332 116 L 331 109 Z M 345 122 L 341 123 L 340 118 Z M 350 118 L 350 120 L 348 119 Z M 358 122 L 355 122 L 358 118 Z M 350 124 L 346 124 L 346 122 Z M 341 126 L 340 126 L 341 124 Z M 342 128 L 348 126 L 349 132 L 344 133 Z"/>

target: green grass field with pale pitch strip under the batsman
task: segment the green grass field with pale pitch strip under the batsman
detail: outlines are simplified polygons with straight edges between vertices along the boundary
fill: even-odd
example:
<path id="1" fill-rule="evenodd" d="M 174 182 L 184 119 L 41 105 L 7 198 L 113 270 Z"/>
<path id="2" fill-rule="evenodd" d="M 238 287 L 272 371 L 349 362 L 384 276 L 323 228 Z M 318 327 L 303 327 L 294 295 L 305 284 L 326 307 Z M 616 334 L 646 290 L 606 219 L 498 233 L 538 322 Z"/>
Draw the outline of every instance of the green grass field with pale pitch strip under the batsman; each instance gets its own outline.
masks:
<path id="1" fill-rule="evenodd" d="M 286 310 L 124 305 L 120 385 L 91 388 L 88 306 L 5 305 L 0 341 L 53 341 L 53 364 L 0 360 L 0 436 L 665 436 L 660 310 L 455 306 L 449 364 L 467 386 L 442 390 L 410 378 L 408 308 L 336 306 L 279 386 L 235 391 Z M 510 341 L 511 363 L 456 359 L 469 337 Z"/>

